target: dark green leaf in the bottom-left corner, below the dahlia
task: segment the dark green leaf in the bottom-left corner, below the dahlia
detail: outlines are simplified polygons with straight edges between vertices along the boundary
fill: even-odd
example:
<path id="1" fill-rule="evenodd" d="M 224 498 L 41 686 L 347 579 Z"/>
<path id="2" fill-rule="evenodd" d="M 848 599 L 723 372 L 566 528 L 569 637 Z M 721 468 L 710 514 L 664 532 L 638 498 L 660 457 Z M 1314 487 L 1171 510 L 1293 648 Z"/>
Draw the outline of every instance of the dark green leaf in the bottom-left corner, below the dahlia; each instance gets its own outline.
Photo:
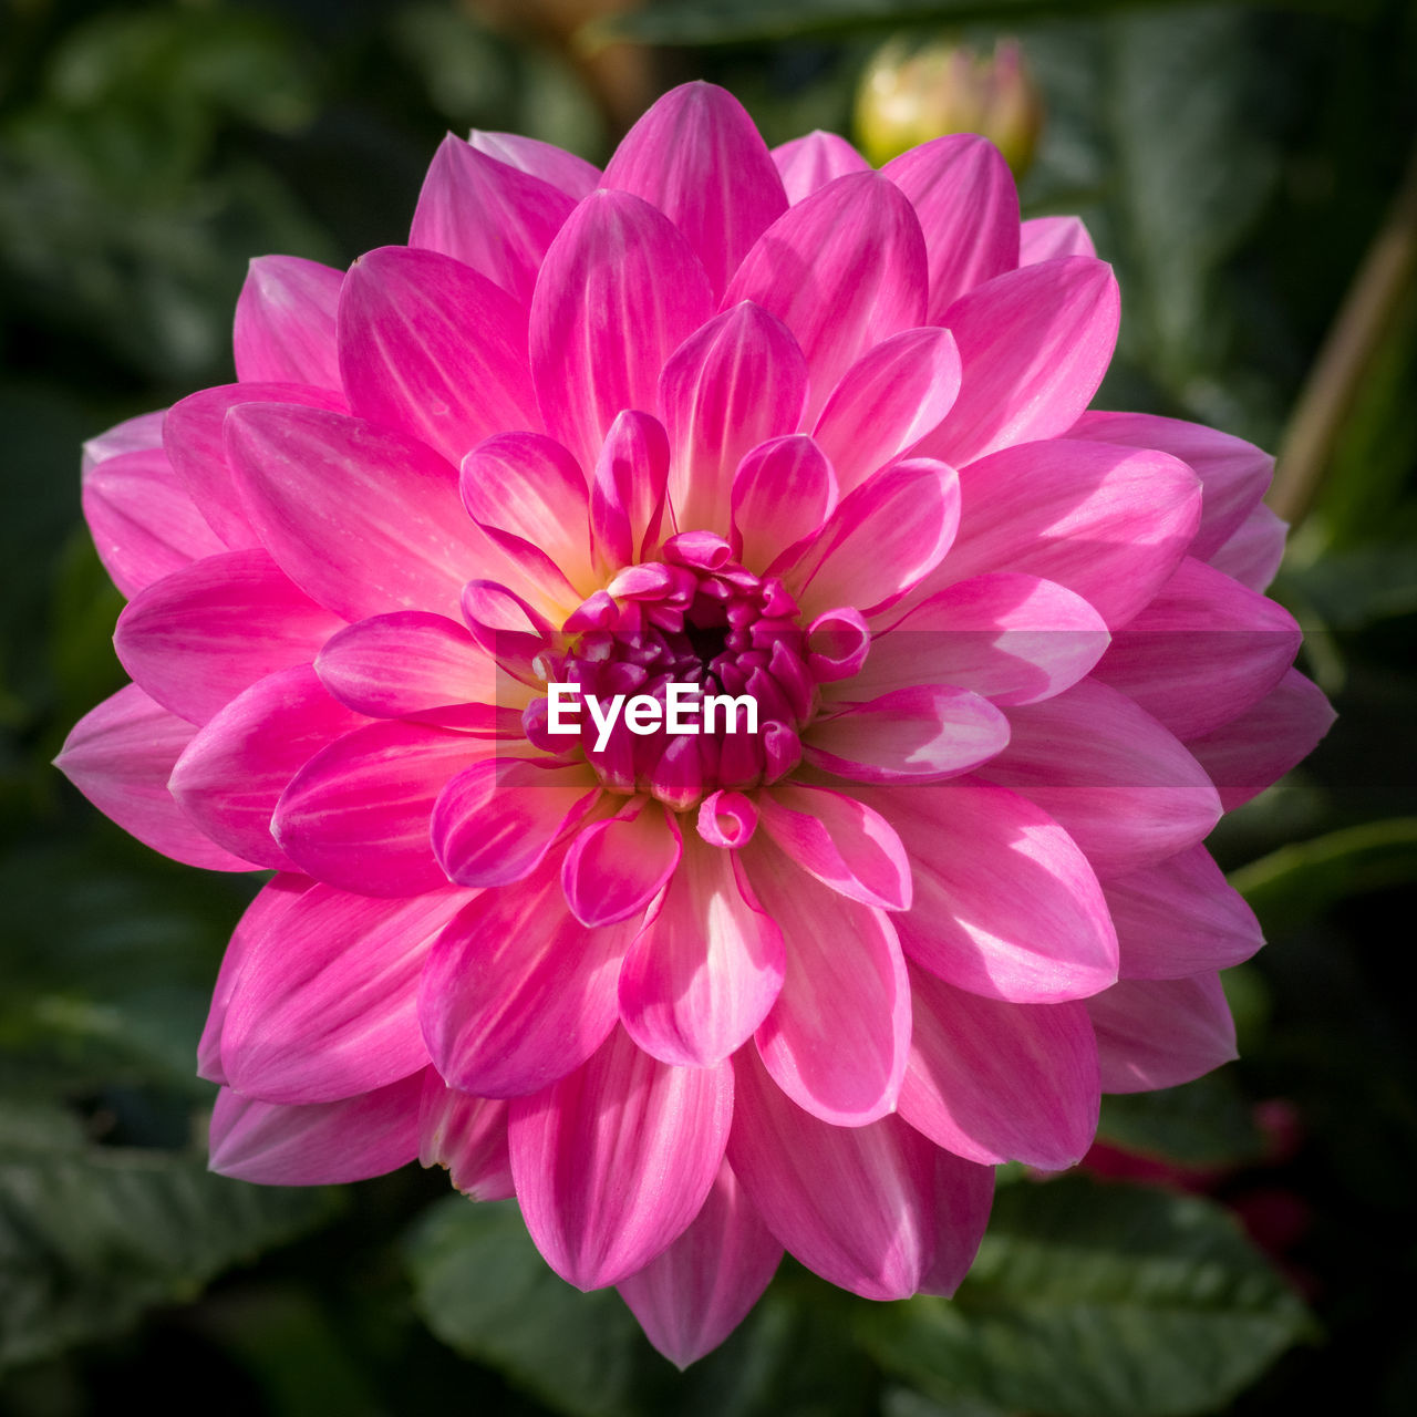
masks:
<path id="1" fill-rule="evenodd" d="M 0 1370 L 120 1333 L 332 1206 L 188 1152 L 95 1146 L 62 1107 L 0 1102 Z"/>

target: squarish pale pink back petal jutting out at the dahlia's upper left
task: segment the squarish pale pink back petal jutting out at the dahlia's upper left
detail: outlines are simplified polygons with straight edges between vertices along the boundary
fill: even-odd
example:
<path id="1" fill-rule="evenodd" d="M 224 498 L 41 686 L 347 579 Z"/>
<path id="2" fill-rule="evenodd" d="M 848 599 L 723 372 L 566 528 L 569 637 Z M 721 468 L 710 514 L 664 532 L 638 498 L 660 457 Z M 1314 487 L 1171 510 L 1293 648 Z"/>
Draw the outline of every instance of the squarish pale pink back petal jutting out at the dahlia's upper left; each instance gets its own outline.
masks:
<path id="1" fill-rule="evenodd" d="M 256 256 L 237 299 L 237 378 L 340 388 L 334 312 L 344 275 L 300 256 Z"/>

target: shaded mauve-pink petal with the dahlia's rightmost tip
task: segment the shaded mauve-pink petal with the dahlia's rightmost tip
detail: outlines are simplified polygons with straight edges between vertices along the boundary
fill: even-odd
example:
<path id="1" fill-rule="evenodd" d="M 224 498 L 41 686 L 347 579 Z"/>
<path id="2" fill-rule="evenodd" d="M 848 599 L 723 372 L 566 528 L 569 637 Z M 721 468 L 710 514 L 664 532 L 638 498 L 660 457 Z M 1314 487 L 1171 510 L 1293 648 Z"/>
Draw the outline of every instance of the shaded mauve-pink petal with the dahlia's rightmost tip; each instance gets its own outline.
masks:
<path id="1" fill-rule="evenodd" d="M 1323 691 L 1291 669 L 1253 708 L 1186 748 L 1220 789 L 1227 812 L 1278 782 L 1333 726 Z"/>

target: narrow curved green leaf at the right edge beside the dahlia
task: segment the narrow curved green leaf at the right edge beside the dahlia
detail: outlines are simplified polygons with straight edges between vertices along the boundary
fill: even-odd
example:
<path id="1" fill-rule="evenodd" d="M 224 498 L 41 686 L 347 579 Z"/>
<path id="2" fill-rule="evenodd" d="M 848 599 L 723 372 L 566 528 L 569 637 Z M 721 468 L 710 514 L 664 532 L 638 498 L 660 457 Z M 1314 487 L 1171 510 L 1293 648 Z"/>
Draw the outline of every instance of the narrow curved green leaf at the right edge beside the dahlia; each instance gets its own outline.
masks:
<path id="1" fill-rule="evenodd" d="M 1230 873 L 1267 934 L 1294 930 L 1350 896 L 1417 881 L 1417 818 L 1295 842 Z"/>

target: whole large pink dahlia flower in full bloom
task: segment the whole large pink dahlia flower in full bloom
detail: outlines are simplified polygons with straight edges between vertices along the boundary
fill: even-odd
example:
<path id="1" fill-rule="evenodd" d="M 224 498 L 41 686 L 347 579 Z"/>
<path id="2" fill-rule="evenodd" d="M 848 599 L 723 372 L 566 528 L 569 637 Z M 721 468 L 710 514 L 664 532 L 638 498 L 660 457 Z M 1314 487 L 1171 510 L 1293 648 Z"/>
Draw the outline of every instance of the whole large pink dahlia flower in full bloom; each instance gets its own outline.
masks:
<path id="1" fill-rule="evenodd" d="M 86 449 L 133 683 L 60 760 L 276 873 L 213 1166 L 444 1165 L 686 1363 L 784 1250 L 948 1294 L 996 1163 L 1229 1058 L 1260 935 L 1202 842 L 1329 708 L 1270 459 L 1087 411 L 1117 319 L 981 139 L 769 152 L 706 85 L 255 261 L 238 381 Z"/>

